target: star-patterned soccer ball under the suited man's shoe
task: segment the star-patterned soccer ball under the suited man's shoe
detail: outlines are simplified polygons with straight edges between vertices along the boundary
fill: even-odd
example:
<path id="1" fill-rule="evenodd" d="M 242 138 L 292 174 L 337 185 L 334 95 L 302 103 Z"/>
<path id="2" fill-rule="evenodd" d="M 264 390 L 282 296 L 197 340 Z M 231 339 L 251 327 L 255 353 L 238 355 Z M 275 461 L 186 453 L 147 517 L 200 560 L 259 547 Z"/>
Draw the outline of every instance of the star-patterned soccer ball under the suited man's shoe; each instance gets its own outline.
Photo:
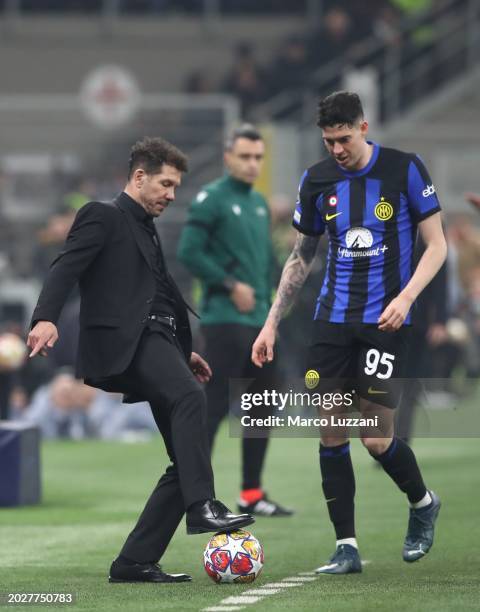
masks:
<path id="1" fill-rule="evenodd" d="M 217 533 L 203 553 L 205 571 L 214 582 L 253 582 L 263 567 L 263 548 L 248 531 Z"/>

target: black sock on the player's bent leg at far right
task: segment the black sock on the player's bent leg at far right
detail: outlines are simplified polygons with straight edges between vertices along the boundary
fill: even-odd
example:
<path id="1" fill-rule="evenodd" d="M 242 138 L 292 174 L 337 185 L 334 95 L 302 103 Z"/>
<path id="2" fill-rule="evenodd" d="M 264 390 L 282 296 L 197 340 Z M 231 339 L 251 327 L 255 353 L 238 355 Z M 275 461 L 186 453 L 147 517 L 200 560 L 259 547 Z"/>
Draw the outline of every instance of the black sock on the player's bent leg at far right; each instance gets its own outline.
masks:
<path id="1" fill-rule="evenodd" d="M 372 455 L 398 488 L 407 494 L 411 504 L 425 497 L 427 487 L 412 449 L 400 438 L 393 438 L 388 449 L 381 455 Z"/>

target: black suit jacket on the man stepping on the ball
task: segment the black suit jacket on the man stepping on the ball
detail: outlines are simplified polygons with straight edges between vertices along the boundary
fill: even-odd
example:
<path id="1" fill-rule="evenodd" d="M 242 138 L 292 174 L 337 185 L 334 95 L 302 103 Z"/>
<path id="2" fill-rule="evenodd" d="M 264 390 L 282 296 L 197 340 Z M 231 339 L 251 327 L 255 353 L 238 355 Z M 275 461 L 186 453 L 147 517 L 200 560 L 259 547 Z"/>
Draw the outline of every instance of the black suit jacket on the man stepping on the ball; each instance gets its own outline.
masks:
<path id="1" fill-rule="evenodd" d="M 39 320 L 56 324 L 78 281 L 81 307 L 76 374 L 93 386 L 100 385 L 92 381 L 126 370 L 155 294 L 142 230 L 125 205 L 126 198 L 120 194 L 111 203 L 89 202 L 79 210 L 32 316 L 32 325 Z M 177 337 L 189 360 L 192 335 L 187 309 L 191 309 L 169 274 L 168 280 L 175 301 Z"/>

